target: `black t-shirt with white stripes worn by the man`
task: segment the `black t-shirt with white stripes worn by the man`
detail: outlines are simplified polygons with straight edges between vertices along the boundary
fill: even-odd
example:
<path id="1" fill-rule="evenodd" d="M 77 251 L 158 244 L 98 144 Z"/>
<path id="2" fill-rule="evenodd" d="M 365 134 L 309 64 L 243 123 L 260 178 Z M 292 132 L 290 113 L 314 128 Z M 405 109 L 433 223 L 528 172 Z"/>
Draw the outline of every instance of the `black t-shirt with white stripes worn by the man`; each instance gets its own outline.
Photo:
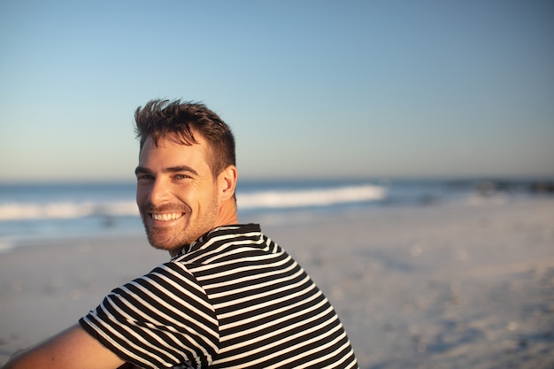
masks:
<path id="1" fill-rule="evenodd" d="M 253 224 L 204 234 L 80 323 L 144 368 L 358 368 L 327 298 Z"/>

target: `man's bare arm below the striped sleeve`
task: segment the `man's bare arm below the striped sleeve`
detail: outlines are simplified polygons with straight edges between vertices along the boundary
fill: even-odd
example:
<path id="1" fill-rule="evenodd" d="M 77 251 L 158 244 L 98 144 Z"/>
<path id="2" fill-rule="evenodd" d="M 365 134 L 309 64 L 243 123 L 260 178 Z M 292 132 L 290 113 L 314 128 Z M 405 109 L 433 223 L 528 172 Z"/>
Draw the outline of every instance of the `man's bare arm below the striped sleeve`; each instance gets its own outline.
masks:
<path id="1" fill-rule="evenodd" d="M 4 369 L 108 369 L 124 361 L 75 325 L 14 357 Z"/>

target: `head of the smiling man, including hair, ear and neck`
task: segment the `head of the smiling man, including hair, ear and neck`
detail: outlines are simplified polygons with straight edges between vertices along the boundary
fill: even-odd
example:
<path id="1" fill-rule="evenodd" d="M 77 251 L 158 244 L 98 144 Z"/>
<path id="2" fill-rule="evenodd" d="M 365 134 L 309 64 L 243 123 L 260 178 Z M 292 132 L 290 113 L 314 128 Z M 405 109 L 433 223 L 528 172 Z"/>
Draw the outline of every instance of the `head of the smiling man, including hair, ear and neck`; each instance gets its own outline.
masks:
<path id="1" fill-rule="evenodd" d="M 236 223 L 235 140 L 203 104 L 153 100 L 135 112 L 136 201 L 150 243 L 175 254 Z"/>

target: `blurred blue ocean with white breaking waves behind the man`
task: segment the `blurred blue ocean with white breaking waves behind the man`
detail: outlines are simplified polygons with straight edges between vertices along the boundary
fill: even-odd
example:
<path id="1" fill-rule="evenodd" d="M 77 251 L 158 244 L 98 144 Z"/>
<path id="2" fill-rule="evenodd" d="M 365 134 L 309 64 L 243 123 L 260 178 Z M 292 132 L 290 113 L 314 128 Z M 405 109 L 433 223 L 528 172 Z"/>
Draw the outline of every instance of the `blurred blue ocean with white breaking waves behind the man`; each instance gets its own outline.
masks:
<path id="1" fill-rule="evenodd" d="M 506 183 L 509 184 L 506 185 Z M 475 196 L 529 194 L 531 181 L 240 181 L 239 220 L 310 221 L 389 206 L 470 204 Z M 21 241 L 142 234 L 134 183 L 0 184 L 0 250 Z"/>

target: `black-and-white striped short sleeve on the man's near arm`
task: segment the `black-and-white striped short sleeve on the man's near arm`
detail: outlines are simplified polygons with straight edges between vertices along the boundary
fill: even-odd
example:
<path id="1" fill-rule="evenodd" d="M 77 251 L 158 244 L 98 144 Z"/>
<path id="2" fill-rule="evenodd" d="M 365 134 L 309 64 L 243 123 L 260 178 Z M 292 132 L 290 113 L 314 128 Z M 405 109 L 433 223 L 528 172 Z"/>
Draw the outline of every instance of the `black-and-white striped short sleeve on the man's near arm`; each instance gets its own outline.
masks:
<path id="1" fill-rule="evenodd" d="M 145 368 L 205 367 L 219 347 L 212 304 L 181 263 L 112 290 L 79 322 L 116 355 Z"/>

